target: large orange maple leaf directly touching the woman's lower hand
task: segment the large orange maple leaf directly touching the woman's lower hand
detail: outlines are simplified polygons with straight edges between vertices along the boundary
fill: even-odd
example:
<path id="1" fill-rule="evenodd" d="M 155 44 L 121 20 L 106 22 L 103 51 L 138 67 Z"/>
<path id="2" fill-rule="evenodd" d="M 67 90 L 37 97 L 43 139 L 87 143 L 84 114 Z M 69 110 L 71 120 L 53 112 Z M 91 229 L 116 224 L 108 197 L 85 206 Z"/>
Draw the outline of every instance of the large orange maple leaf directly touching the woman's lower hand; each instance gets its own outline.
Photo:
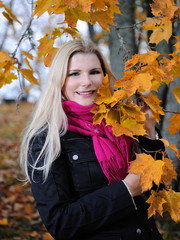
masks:
<path id="1" fill-rule="evenodd" d="M 151 155 L 136 154 L 136 160 L 130 163 L 129 172 L 140 176 L 141 187 L 143 191 L 147 191 L 151 189 L 153 182 L 159 186 L 163 166 L 163 161 L 154 160 Z"/>

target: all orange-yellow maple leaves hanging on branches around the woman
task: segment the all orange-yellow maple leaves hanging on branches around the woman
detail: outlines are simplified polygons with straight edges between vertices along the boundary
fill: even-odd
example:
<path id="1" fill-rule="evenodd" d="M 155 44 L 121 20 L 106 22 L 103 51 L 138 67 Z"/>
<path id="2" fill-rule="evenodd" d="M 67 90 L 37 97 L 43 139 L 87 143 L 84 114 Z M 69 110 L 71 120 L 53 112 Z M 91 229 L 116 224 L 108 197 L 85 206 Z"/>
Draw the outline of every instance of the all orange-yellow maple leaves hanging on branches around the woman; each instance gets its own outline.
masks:
<path id="1" fill-rule="evenodd" d="M 114 13 L 120 13 L 117 0 L 37 0 L 32 18 L 39 18 L 45 12 L 49 15 L 64 14 L 64 23 L 59 28 L 46 33 L 39 40 L 38 59 L 43 59 L 46 66 L 49 66 L 51 59 L 56 52 L 54 42 L 61 38 L 64 33 L 70 34 L 73 38 L 79 38 L 76 27 L 77 20 L 83 20 L 91 24 L 98 22 L 103 30 L 109 31 L 109 25 L 114 25 Z M 10 8 L 0 1 L 0 7 L 4 9 L 3 15 L 10 24 L 14 21 L 19 22 Z M 162 40 L 169 41 L 172 37 L 172 24 L 180 17 L 180 7 L 176 6 L 173 0 L 154 0 L 151 4 L 152 18 L 146 18 L 141 27 L 144 30 L 151 30 L 150 43 L 156 45 Z M 65 27 L 64 24 L 68 27 Z M 160 101 L 156 92 L 163 84 L 169 85 L 174 82 L 175 77 L 180 77 L 180 36 L 176 36 L 175 51 L 172 54 L 161 55 L 156 51 L 148 51 L 144 54 L 136 54 L 125 65 L 124 77 L 117 80 L 110 91 L 108 78 L 104 78 L 102 86 L 99 88 L 99 96 L 96 99 L 97 106 L 93 109 L 94 123 L 99 124 L 102 119 L 106 119 L 107 125 L 112 126 L 115 135 L 126 134 L 136 138 L 136 135 L 145 135 L 144 129 L 145 114 L 138 106 L 138 100 L 143 100 L 152 110 L 153 118 L 159 122 L 160 116 L 164 111 L 160 106 Z M 0 87 L 10 83 L 12 79 L 17 79 L 14 70 L 16 69 L 28 81 L 38 84 L 34 77 L 33 68 L 30 61 L 33 56 L 28 52 L 22 52 L 27 69 L 21 69 L 21 65 L 16 58 L 16 52 L 9 55 L 0 52 Z M 173 94 L 180 102 L 180 88 L 173 89 Z M 134 101 L 134 98 L 136 100 Z M 175 113 L 169 120 L 171 121 L 168 129 L 170 134 L 180 130 L 179 113 Z M 179 158 L 179 150 L 175 146 L 169 145 L 164 141 L 168 148 L 172 148 Z M 175 169 L 172 161 L 167 158 L 167 150 L 162 153 L 163 158 L 152 159 L 145 154 L 138 154 L 137 159 L 131 164 L 130 172 L 141 176 L 141 183 L 144 189 L 149 189 L 152 183 L 157 186 L 161 182 L 165 185 L 163 191 L 152 191 L 147 202 L 150 203 L 149 216 L 158 212 L 160 215 L 168 211 L 171 218 L 179 221 L 180 208 L 173 208 L 174 201 L 180 202 L 179 193 L 175 193 L 171 188 L 171 180 L 176 178 Z M 139 171 L 141 170 L 141 171 Z"/>

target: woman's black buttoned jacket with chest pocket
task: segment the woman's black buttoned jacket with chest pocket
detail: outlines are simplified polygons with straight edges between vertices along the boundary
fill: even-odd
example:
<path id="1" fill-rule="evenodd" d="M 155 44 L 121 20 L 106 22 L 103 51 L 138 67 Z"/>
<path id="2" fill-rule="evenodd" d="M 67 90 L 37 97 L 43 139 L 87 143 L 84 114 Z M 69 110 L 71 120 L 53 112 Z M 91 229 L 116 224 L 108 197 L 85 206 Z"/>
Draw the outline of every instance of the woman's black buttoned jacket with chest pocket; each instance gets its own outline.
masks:
<path id="1" fill-rule="evenodd" d="M 33 140 L 29 163 L 36 160 L 45 137 L 43 133 Z M 151 150 L 163 147 L 161 141 L 147 141 Z M 123 181 L 108 186 L 91 137 L 67 132 L 61 144 L 47 180 L 43 183 L 42 172 L 35 171 L 31 184 L 42 221 L 54 239 L 162 240 L 154 219 L 147 219 L 143 196 L 133 202 Z"/>

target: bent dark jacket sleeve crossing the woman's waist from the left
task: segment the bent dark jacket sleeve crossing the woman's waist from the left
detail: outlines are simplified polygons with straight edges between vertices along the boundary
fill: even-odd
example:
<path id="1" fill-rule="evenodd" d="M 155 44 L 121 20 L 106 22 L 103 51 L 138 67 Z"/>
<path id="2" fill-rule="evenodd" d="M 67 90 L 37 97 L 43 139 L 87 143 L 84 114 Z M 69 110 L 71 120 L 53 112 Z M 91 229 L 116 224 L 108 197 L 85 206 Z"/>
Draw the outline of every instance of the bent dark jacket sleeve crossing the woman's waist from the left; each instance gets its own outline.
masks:
<path id="1" fill-rule="evenodd" d="M 36 137 L 29 153 L 29 163 L 37 158 L 44 143 Z M 40 164 L 43 158 L 40 160 Z M 71 239 L 91 233 L 114 219 L 123 219 L 135 211 L 132 198 L 123 181 L 102 187 L 75 199 L 69 180 L 65 156 L 57 158 L 47 180 L 42 181 L 42 172 L 34 172 L 31 182 L 32 193 L 38 211 L 47 230 L 55 239 Z M 32 169 L 29 166 L 29 175 Z M 116 218 L 114 218 L 116 216 Z"/>

